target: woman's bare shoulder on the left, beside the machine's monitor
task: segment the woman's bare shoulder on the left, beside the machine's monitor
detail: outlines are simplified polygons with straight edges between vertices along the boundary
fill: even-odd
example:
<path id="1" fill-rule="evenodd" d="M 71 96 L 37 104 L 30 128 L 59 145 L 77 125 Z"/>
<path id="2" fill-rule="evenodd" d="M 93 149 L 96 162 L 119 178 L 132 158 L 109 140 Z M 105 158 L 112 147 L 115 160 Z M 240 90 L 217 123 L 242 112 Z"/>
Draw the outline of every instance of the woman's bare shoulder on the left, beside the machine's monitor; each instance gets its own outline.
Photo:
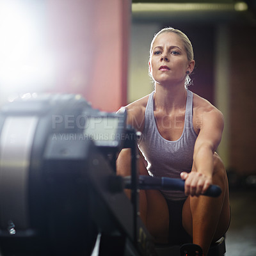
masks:
<path id="1" fill-rule="evenodd" d="M 140 132 L 144 129 L 145 109 L 147 107 L 148 97 L 149 95 L 124 107 L 127 109 L 127 124 Z"/>

